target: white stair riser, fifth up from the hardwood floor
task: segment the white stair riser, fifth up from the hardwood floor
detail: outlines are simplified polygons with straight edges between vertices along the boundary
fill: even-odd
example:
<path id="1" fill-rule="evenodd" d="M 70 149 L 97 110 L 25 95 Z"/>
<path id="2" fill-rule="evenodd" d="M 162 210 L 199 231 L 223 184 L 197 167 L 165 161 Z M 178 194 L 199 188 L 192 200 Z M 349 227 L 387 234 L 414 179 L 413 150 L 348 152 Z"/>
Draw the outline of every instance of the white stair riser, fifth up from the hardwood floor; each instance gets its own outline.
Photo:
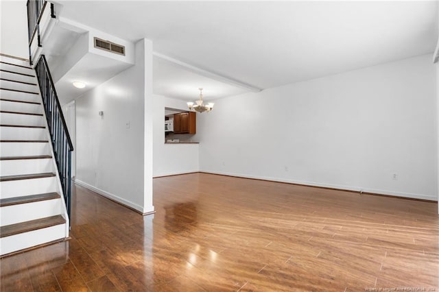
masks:
<path id="1" fill-rule="evenodd" d="M 0 156 L 50 155 L 50 143 L 1 143 Z"/>

